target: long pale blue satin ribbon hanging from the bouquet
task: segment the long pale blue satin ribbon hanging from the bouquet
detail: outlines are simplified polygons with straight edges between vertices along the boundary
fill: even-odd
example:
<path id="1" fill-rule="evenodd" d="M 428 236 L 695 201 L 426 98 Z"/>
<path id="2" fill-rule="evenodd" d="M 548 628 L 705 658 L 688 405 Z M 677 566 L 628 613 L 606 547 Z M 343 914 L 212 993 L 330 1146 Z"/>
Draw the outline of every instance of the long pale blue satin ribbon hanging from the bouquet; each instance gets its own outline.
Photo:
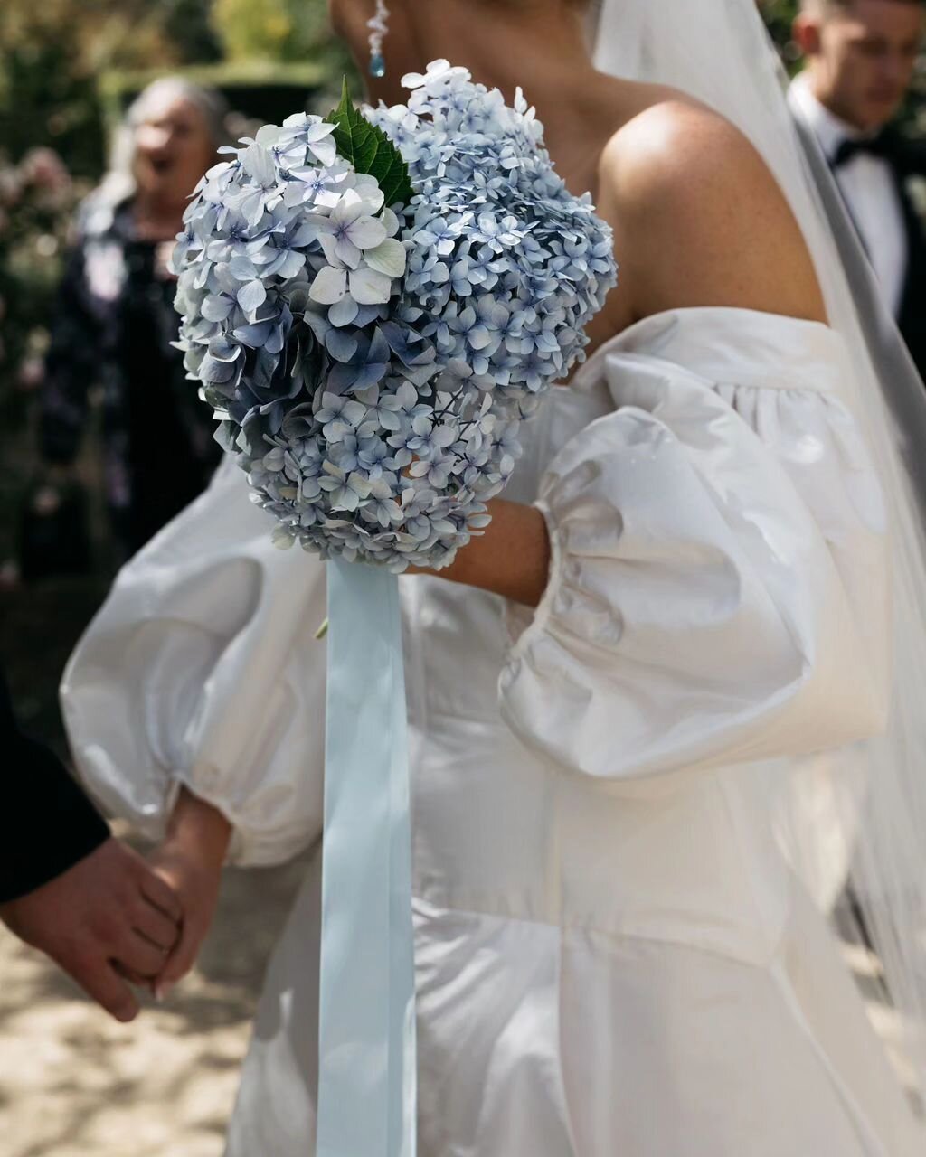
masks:
<path id="1" fill-rule="evenodd" d="M 414 1157 L 414 941 L 395 575 L 328 563 L 316 1157 Z"/>

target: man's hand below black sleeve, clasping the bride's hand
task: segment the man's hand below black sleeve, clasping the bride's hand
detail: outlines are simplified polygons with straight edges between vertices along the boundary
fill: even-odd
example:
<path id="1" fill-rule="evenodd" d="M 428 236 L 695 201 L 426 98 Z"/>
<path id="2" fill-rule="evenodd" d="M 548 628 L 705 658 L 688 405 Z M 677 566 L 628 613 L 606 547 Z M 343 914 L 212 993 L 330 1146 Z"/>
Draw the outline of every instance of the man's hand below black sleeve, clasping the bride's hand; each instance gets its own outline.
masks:
<path id="1" fill-rule="evenodd" d="M 179 936 L 170 886 L 131 848 L 109 839 L 68 871 L 17 900 L 0 920 L 39 949 L 117 1020 L 138 1016 L 126 977 L 156 977 Z"/>

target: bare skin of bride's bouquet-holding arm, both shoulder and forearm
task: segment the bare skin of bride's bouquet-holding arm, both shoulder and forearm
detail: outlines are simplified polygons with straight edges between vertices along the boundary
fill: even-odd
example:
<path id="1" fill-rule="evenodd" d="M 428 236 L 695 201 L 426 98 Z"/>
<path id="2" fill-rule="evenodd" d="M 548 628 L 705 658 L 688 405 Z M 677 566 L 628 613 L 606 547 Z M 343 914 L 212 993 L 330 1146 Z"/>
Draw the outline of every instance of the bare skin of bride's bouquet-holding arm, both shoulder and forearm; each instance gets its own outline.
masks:
<path id="1" fill-rule="evenodd" d="M 605 305 L 605 314 L 619 309 L 615 332 L 697 305 L 826 319 L 787 201 L 752 146 L 712 112 L 661 104 L 622 128 L 602 156 L 597 209 L 615 230 L 620 263 Z M 502 499 L 488 508 L 485 533 L 436 574 L 536 606 L 550 563 L 544 518 Z"/>

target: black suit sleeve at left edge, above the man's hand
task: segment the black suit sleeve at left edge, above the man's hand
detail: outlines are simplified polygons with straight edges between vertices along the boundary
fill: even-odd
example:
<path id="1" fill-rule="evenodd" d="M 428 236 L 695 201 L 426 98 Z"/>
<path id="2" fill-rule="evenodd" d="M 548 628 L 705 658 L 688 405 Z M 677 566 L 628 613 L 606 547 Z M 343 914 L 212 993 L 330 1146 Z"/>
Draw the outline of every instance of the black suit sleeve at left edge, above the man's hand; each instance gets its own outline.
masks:
<path id="1" fill-rule="evenodd" d="M 25 896 L 108 839 L 109 827 L 47 747 L 16 724 L 0 668 L 0 902 Z"/>

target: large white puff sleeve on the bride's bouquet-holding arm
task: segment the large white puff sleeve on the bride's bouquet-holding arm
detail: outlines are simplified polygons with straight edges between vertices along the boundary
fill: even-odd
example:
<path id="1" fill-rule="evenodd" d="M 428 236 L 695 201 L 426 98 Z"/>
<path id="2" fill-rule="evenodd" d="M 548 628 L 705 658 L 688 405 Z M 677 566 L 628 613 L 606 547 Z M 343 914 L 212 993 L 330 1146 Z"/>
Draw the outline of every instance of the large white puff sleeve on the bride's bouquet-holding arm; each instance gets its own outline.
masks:
<path id="1" fill-rule="evenodd" d="M 500 678 L 528 746 L 616 790 L 885 722 L 883 508 L 850 415 L 661 364 L 625 358 L 633 404 L 542 479 L 549 585 L 532 616 L 510 609 Z"/>

